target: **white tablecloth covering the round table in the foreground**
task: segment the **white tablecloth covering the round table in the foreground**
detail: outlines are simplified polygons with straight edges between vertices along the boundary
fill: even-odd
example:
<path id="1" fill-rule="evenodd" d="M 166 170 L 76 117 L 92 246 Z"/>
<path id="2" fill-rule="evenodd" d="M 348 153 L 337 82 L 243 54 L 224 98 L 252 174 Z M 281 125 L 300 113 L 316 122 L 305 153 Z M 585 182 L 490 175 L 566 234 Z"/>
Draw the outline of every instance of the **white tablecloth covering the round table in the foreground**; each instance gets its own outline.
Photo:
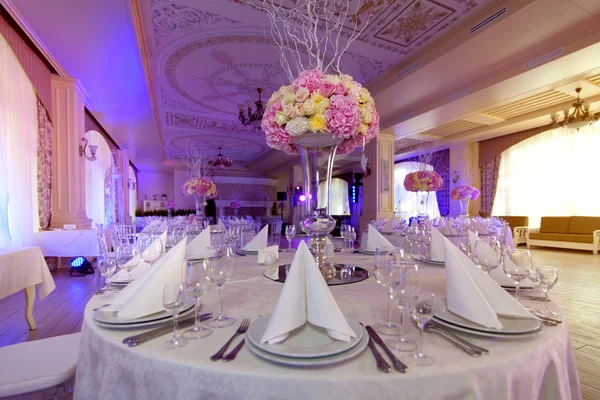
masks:
<path id="1" fill-rule="evenodd" d="M 278 264 L 291 262 L 281 253 Z M 371 269 L 372 257 L 336 254 L 335 262 Z M 267 267 L 256 256 L 237 258 L 235 277 L 223 287 L 225 313 L 256 319 L 273 311 L 282 283 L 262 274 Z M 422 264 L 422 285 L 444 296 L 444 268 Z M 387 314 L 385 290 L 374 279 L 331 287 L 340 309 L 348 318 L 365 325 Z M 160 296 L 157 293 L 157 296 Z M 216 288 L 202 297 L 202 312 L 218 310 Z M 383 374 L 367 348 L 356 358 L 329 367 L 294 368 L 272 364 L 244 347 L 233 362 L 216 361 L 214 354 L 235 332 L 238 324 L 215 329 L 182 348 L 162 347 L 167 336 L 139 347 L 127 347 L 123 338 L 142 330 L 108 330 L 94 323 L 92 309 L 102 304 L 97 297 L 86 306 L 83 337 L 77 364 L 76 399 L 579 399 L 577 367 L 566 322 L 545 327 L 542 334 L 519 340 L 469 337 L 489 349 L 474 358 L 450 343 L 425 336 L 424 352 L 435 364 L 411 364 L 409 353 L 397 353 L 409 365 L 406 374 Z M 540 306 L 541 303 L 531 304 Z M 551 304 L 564 319 L 562 310 Z M 411 327 L 411 329 L 413 329 Z M 417 338 L 416 329 L 411 334 Z M 385 338 L 385 337 L 384 337 Z M 238 339 L 239 340 L 239 339 Z M 237 341 L 235 342 L 237 343 Z M 230 346 L 230 349 L 233 346 Z"/>

